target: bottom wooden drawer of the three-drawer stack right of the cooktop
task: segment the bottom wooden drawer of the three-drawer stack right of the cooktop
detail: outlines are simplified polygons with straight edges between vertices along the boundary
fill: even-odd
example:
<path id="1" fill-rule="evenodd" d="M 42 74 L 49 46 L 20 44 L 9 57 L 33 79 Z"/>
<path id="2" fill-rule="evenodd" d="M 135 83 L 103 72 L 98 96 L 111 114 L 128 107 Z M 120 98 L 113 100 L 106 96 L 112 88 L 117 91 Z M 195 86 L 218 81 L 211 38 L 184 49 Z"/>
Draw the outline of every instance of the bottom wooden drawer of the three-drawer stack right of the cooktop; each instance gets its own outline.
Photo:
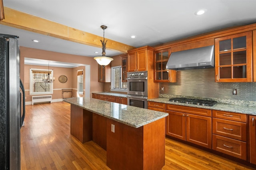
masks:
<path id="1" fill-rule="evenodd" d="M 246 142 L 212 135 L 212 149 L 246 160 Z"/>

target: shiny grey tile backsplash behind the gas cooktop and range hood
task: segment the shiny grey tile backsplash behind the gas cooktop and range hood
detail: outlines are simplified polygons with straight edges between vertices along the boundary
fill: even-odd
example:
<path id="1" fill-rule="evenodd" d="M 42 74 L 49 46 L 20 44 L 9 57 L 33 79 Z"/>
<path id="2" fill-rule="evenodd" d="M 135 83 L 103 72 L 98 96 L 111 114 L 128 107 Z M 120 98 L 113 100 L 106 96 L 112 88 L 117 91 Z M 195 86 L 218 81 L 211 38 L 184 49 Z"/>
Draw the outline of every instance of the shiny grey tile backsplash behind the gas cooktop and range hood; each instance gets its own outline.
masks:
<path id="1" fill-rule="evenodd" d="M 160 83 L 160 96 L 256 101 L 256 82 L 215 82 L 214 78 L 214 68 L 180 70 L 177 71 L 176 83 Z M 232 89 L 238 89 L 237 95 L 232 94 Z"/>

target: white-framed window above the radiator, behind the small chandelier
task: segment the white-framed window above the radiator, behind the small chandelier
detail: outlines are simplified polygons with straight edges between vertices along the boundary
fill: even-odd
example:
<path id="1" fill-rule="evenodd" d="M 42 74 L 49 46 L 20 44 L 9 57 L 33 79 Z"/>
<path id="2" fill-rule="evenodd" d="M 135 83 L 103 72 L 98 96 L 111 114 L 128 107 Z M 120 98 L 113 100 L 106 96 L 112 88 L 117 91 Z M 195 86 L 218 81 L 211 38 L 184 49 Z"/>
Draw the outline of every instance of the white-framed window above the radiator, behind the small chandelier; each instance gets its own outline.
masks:
<path id="1" fill-rule="evenodd" d="M 29 93 L 32 94 L 53 94 L 53 83 L 44 82 L 48 73 L 53 77 L 53 70 L 30 68 Z"/>

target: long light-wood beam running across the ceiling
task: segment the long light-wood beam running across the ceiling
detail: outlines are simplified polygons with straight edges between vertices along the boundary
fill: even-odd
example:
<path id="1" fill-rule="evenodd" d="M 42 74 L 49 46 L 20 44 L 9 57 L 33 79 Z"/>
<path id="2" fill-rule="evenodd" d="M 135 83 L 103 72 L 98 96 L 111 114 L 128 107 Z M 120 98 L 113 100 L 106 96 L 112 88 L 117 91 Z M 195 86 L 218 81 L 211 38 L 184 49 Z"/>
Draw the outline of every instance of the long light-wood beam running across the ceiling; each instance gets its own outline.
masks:
<path id="1" fill-rule="evenodd" d="M 39 18 L 37 16 L 32 16 L 30 14 L 13 10 L 5 6 L 4 17 L 4 20 L 0 21 L 0 23 L 3 25 L 8 25 L 10 27 L 15 27 L 18 29 L 24 29 L 35 33 L 48 35 L 51 37 L 102 48 L 102 43 L 100 42 L 100 39 L 103 39 L 103 37 L 100 37 L 98 35 L 87 33 L 72 27 L 68 27 L 66 25 L 62 25 L 60 23 Z M 111 39 L 106 40 L 108 40 L 108 50 L 118 51 L 120 53 L 127 53 L 128 50 L 135 48 L 130 45 L 113 41 Z"/>

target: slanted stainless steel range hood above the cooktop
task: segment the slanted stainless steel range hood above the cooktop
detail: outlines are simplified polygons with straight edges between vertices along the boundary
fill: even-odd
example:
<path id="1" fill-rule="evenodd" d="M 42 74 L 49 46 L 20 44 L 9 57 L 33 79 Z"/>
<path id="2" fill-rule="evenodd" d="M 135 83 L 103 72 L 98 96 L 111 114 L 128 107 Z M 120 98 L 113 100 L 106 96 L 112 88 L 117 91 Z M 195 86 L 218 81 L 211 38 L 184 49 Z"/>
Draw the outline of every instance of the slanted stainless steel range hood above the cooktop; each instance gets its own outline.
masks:
<path id="1" fill-rule="evenodd" d="M 214 68 L 214 45 L 171 53 L 166 69 Z"/>

